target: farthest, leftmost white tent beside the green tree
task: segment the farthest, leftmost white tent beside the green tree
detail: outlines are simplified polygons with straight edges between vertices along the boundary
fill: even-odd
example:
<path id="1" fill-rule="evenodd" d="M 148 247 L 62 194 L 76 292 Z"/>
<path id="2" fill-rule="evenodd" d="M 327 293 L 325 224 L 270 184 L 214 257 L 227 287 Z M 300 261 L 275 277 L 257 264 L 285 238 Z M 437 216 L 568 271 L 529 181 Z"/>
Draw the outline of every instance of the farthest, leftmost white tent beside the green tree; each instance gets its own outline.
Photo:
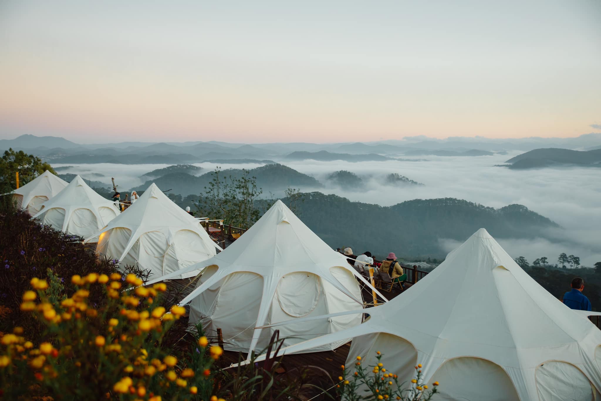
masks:
<path id="1" fill-rule="evenodd" d="M 63 191 L 67 184 L 65 180 L 46 170 L 34 180 L 15 189 L 13 199 L 19 209 L 27 210 L 33 216 L 41 210 L 41 204 Z"/>

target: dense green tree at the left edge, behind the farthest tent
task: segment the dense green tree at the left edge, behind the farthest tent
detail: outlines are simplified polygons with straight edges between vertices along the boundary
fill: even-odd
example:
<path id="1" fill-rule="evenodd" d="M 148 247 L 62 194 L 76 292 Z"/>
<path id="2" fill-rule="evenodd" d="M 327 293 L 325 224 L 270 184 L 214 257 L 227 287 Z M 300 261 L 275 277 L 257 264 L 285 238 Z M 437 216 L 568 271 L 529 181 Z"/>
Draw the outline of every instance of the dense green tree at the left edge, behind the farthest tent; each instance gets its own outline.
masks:
<path id="1" fill-rule="evenodd" d="M 5 150 L 0 159 L 0 185 L 10 189 L 17 188 L 16 174 L 19 172 L 19 186 L 23 186 L 44 171 L 56 172 L 46 162 L 34 155 L 19 150 L 15 152 L 12 148 Z"/>

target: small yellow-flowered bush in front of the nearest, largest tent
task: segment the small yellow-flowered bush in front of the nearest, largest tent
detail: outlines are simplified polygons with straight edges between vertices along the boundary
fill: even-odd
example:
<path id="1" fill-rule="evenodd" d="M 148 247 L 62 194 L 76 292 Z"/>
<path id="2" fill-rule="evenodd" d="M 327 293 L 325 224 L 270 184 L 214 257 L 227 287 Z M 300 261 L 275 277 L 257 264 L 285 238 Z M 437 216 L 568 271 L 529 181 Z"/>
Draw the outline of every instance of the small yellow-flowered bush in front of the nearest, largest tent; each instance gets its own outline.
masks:
<path id="1" fill-rule="evenodd" d="M 355 372 L 350 374 L 346 367 L 342 366 L 342 376 L 338 379 L 340 384 L 337 385 L 337 394 L 344 400 L 359 401 L 359 400 L 403 400 L 403 401 L 429 401 L 432 396 L 438 391 L 436 387 L 438 382 L 432 384 L 433 388 L 429 389 L 427 384 L 422 381 L 421 364 L 415 367 L 415 378 L 411 380 L 409 388 L 404 388 L 404 384 L 398 383 L 398 376 L 392 372 L 388 372 L 383 363 L 382 353 L 376 352 L 377 364 L 369 366 L 371 368 L 370 375 L 364 366 L 361 364 L 361 357 L 357 357 L 355 363 Z M 359 394 L 360 392 L 365 394 Z"/>

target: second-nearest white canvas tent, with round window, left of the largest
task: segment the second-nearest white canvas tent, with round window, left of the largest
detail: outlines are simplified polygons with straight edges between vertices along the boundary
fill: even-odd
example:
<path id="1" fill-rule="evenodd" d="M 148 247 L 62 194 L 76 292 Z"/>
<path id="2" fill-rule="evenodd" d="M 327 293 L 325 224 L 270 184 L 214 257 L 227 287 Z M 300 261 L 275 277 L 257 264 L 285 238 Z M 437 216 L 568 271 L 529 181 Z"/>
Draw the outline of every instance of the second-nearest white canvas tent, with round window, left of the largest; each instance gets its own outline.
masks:
<path id="1" fill-rule="evenodd" d="M 180 305 L 190 302 L 191 324 L 200 321 L 212 334 L 221 328 L 225 349 L 243 352 L 261 350 L 269 343 L 272 331 L 254 330 L 255 326 L 361 308 L 361 290 L 354 276 L 367 284 L 344 256 L 281 201 L 223 252 L 188 269 L 203 268 L 196 289 Z M 150 283 L 168 278 L 166 275 Z M 284 345 L 294 344 L 359 323 L 360 315 L 291 324 L 281 329 L 280 338 L 286 338 Z M 349 338 L 304 352 L 335 349 Z"/>

